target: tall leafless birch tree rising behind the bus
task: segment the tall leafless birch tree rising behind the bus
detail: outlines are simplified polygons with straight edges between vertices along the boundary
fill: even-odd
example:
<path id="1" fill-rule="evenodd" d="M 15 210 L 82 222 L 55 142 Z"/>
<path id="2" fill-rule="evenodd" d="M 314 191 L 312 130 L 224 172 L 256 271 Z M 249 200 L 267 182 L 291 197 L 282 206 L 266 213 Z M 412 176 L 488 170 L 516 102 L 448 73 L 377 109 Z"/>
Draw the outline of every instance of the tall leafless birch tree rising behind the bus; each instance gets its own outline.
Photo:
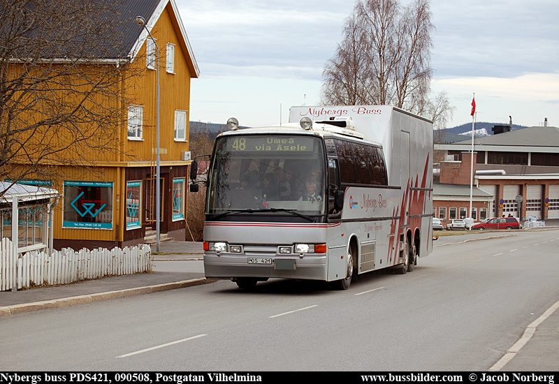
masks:
<path id="1" fill-rule="evenodd" d="M 445 92 L 430 99 L 431 17 L 429 0 L 357 0 L 324 67 L 321 102 L 395 105 L 444 126 L 453 109 Z"/>

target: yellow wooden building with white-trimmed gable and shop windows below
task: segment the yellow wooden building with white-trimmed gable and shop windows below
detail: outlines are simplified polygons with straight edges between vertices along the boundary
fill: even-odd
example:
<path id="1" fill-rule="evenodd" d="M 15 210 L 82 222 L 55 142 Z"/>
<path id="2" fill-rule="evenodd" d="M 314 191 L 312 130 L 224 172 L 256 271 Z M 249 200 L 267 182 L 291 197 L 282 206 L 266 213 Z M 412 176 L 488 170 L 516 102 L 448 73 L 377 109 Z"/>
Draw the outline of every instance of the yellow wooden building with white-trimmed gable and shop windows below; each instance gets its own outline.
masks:
<path id="1" fill-rule="evenodd" d="M 121 57 L 126 57 L 127 65 L 141 71 L 120 84 L 126 99 L 133 103 L 127 106 L 128 116 L 114 131 L 115 142 L 119 143 L 117 150 L 87 149 L 82 154 L 87 167 L 52 161 L 49 165 L 60 177 L 53 177 L 52 182 L 44 177 L 32 180 L 61 193 L 54 215 L 55 249 L 140 244 L 146 242 L 148 230 L 155 229 L 157 47 L 160 230 L 162 239 L 184 239 L 190 164 L 190 81 L 198 77 L 198 65 L 174 0 L 129 0 L 122 3 L 119 11 L 130 25 L 124 31 L 129 51 Z M 137 16 L 143 17 L 145 27 L 135 21 Z M 115 59 L 114 63 L 105 59 L 103 64 L 119 62 L 123 59 Z"/>

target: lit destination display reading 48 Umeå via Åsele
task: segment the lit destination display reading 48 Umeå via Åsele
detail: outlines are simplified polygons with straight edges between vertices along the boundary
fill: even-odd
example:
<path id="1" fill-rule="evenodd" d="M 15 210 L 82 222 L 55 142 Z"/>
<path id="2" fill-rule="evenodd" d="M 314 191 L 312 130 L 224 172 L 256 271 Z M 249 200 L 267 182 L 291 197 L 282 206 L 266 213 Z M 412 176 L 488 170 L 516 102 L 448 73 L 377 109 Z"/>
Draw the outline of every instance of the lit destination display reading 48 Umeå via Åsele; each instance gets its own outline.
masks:
<path id="1" fill-rule="evenodd" d="M 314 140 L 303 136 L 244 136 L 231 138 L 229 144 L 239 152 L 312 152 Z"/>

